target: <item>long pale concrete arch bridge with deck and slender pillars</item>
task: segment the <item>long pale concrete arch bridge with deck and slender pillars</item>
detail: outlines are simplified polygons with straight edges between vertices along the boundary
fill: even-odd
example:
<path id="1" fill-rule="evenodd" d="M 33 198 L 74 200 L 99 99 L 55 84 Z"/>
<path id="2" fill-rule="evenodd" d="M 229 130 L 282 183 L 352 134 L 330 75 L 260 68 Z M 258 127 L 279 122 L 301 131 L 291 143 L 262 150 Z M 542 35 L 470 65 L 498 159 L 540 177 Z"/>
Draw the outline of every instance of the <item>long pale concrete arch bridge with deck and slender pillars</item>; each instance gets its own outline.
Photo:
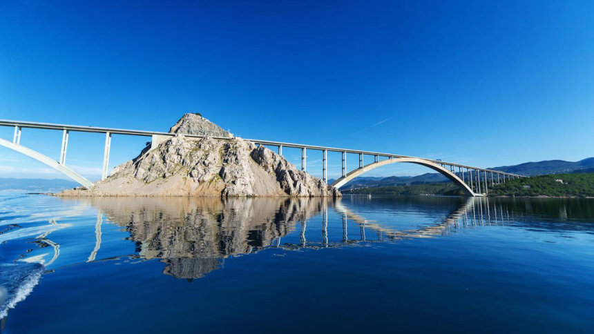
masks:
<path id="1" fill-rule="evenodd" d="M 59 172 L 64 173 L 71 179 L 79 182 L 83 186 L 87 188 L 93 186 L 93 182 L 86 179 L 79 173 L 76 173 L 74 170 L 66 167 L 66 151 L 68 149 L 68 137 L 70 132 L 95 132 L 95 133 L 103 133 L 105 134 L 105 148 L 104 148 L 104 159 L 103 159 L 103 168 L 102 168 L 102 179 L 105 179 L 108 175 L 108 163 L 109 163 L 109 153 L 111 148 L 111 136 L 112 135 L 133 135 L 133 136 L 144 136 L 144 137 L 151 137 L 153 139 L 153 144 L 162 141 L 162 139 L 166 139 L 168 137 L 173 137 L 175 134 L 169 132 L 151 132 L 151 131 L 141 131 L 141 130 L 124 130 L 124 129 L 115 129 L 115 128 L 95 128 L 90 126 L 69 126 L 64 124 L 48 124 L 48 123 L 35 123 L 35 122 L 26 122 L 26 121 L 9 121 L 9 120 L 0 120 L 0 126 L 12 126 L 15 128 L 15 134 L 12 137 L 12 141 L 8 141 L 6 139 L 0 139 L 0 145 L 10 148 L 12 150 L 16 150 L 19 153 L 24 155 L 28 155 L 33 159 L 37 159 L 38 161 L 43 162 L 44 164 L 59 170 Z M 21 130 L 23 128 L 38 128 L 38 129 L 49 129 L 49 130 L 61 130 L 62 131 L 62 142 L 61 142 L 61 151 L 60 151 L 60 158 L 59 161 L 47 157 L 46 155 L 42 155 L 41 153 L 36 152 L 35 150 L 31 150 L 25 146 L 20 144 L 21 142 Z M 189 138 L 202 138 L 204 136 L 198 135 L 185 135 Z M 215 137 L 215 139 L 220 140 L 230 140 L 231 138 L 228 137 Z M 341 153 L 341 166 L 342 166 L 342 174 L 339 179 L 332 183 L 332 186 L 336 188 L 340 188 L 341 186 L 347 184 L 348 181 L 351 181 L 355 177 L 366 173 L 369 170 L 374 168 L 378 168 L 381 166 L 385 166 L 387 164 L 395 164 L 400 162 L 407 162 L 410 164 L 418 164 L 421 166 L 425 166 L 431 168 L 432 170 L 441 173 L 442 175 L 446 176 L 450 179 L 454 184 L 457 184 L 464 193 L 470 196 L 482 196 L 483 194 L 488 193 L 489 186 L 494 186 L 495 184 L 500 184 L 505 182 L 508 179 L 515 179 L 518 177 L 522 177 L 521 175 L 511 174 L 511 173 L 504 173 L 499 170 L 490 170 L 486 168 L 478 168 L 473 166 L 467 166 L 463 164 L 456 164 L 454 162 L 446 162 L 436 159 L 423 159 L 419 157 L 408 157 L 404 155 L 394 155 L 391 153 L 379 153 L 379 152 L 372 152 L 372 151 L 365 151 L 365 150 L 352 150 L 346 148 L 332 148 L 326 146 L 312 146 L 312 145 L 303 145 L 303 144 L 291 144 L 291 143 L 283 143 L 280 141 L 266 141 L 266 140 L 259 140 L 259 139 L 247 139 L 249 141 L 253 141 L 256 144 L 266 145 L 266 146 L 276 146 L 278 148 L 278 154 L 282 155 L 282 148 L 289 147 L 289 148 L 299 148 L 301 150 L 301 169 L 307 170 L 307 151 L 317 150 L 322 153 L 322 178 L 325 182 L 327 182 L 327 157 L 328 152 L 336 152 Z M 355 155 L 358 157 L 358 168 L 355 168 L 352 171 L 347 172 L 347 155 Z M 365 164 L 364 160 L 365 157 L 373 157 L 373 162 L 370 164 Z"/>

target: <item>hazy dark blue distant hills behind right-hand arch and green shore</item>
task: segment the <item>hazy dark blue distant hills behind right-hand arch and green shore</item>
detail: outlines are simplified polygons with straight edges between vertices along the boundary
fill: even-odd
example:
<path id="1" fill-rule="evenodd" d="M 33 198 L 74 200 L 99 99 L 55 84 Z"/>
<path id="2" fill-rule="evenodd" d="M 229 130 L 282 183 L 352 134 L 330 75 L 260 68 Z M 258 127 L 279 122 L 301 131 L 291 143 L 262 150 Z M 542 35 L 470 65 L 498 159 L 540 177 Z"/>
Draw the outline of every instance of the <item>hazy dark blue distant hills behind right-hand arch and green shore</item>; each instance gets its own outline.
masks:
<path id="1" fill-rule="evenodd" d="M 594 173 L 594 157 L 576 162 L 564 160 L 546 160 L 538 162 L 526 162 L 524 164 L 514 166 L 493 167 L 490 169 L 527 176 L 559 173 Z M 330 183 L 332 183 L 334 180 L 330 181 Z M 348 184 L 343 186 L 341 190 L 389 186 L 414 186 L 416 184 L 431 184 L 447 181 L 448 179 L 439 173 L 425 173 L 423 175 L 417 175 L 414 177 L 356 177 Z"/>

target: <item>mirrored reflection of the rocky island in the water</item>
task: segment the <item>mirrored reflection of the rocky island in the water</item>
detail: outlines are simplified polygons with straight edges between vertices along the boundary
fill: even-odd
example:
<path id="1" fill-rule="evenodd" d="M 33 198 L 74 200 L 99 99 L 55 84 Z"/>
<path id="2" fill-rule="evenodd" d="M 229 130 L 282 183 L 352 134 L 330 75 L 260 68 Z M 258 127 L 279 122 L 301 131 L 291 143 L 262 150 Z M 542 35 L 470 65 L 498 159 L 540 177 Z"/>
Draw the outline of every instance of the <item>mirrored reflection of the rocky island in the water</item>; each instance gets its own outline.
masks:
<path id="1" fill-rule="evenodd" d="M 220 199 L 93 197 L 93 206 L 124 226 L 145 259 L 162 259 L 164 273 L 196 278 L 229 255 L 253 253 L 287 235 L 295 222 L 320 213 L 320 198 Z"/>

